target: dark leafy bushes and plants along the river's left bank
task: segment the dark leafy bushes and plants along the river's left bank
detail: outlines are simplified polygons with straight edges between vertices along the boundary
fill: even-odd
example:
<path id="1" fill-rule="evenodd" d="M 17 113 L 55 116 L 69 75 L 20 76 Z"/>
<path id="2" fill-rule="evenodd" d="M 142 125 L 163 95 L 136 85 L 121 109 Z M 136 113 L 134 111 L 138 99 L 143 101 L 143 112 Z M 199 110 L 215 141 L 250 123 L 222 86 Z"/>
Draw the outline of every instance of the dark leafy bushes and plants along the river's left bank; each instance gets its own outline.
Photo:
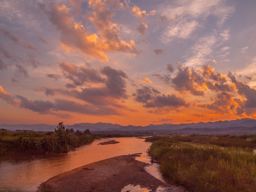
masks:
<path id="1" fill-rule="evenodd" d="M 92 143 L 94 138 L 88 133 L 89 129 L 86 133 L 74 133 L 74 129 L 66 129 L 62 122 L 54 132 L 0 131 L 0 155 L 65 153 L 74 147 Z"/>

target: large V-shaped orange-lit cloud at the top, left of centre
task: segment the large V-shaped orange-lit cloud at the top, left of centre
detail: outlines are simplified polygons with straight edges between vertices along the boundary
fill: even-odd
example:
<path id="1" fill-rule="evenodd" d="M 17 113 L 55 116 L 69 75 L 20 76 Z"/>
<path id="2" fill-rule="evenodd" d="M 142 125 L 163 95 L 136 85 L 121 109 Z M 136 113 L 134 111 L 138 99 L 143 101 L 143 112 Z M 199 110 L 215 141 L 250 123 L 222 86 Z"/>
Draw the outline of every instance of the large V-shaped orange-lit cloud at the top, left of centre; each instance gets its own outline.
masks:
<path id="1" fill-rule="evenodd" d="M 109 2 L 109 1 L 108 1 Z M 108 62 L 106 52 L 121 51 L 137 55 L 133 40 L 121 40 L 117 31 L 117 24 L 112 21 L 115 15 L 106 7 L 106 2 L 89 0 L 88 7 L 93 11 L 89 20 L 94 25 L 97 33 L 86 31 L 81 22 L 76 22 L 70 8 L 64 4 L 52 3 L 49 10 L 43 5 L 41 9 L 47 14 L 49 20 L 61 31 L 61 43 L 67 51 L 77 49 L 81 53 L 101 61 Z"/>

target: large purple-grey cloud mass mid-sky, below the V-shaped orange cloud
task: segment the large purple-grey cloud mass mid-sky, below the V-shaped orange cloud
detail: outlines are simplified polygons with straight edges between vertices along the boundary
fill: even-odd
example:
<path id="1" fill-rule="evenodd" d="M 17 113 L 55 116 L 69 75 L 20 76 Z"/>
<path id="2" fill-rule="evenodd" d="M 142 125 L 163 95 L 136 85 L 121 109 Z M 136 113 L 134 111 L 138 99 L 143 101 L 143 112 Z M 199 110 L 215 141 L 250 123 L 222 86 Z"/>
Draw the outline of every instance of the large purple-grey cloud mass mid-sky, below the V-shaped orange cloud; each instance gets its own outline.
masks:
<path id="1" fill-rule="evenodd" d="M 64 76 L 74 84 L 66 87 L 83 86 L 82 91 L 72 91 L 72 96 L 89 103 L 112 103 L 116 99 L 128 98 L 126 94 L 126 80 L 128 76 L 124 71 L 105 66 L 100 70 L 76 67 L 74 64 L 60 63 Z M 86 87 L 84 87 L 86 86 Z M 96 102 L 96 103 L 95 103 Z M 104 104 L 105 105 L 105 104 Z"/>

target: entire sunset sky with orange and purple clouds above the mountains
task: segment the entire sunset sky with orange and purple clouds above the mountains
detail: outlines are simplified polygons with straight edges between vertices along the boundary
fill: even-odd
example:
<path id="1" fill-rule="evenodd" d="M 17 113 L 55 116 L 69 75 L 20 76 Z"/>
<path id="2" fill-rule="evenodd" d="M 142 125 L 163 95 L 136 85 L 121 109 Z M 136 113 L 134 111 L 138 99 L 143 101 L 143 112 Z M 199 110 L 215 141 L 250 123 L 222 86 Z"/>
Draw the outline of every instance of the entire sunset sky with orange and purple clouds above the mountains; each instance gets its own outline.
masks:
<path id="1" fill-rule="evenodd" d="M 1 0 L 0 124 L 256 118 L 255 0 Z"/>

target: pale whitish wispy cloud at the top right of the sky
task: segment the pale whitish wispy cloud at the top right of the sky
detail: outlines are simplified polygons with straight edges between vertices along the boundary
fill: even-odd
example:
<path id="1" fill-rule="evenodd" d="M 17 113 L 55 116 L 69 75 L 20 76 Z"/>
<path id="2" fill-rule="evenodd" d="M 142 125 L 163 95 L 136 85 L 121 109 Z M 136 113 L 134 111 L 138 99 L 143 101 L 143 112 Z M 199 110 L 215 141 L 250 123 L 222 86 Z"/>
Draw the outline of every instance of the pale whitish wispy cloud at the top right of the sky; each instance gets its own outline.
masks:
<path id="1" fill-rule="evenodd" d="M 193 31 L 213 22 L 221 27 L 225 20 L 235 11 L 234 6 L 228 6 L 223 1 L 205 2 L 202 0 L 177 1 L 176 4 L 159 7 L 159 12 L 165 16 L 166 27 L 162 32 L 162 42 L 171 42 L 174 38 L 190 38 Z M 223 34 L 225 35 L 225 34 Z"/>

